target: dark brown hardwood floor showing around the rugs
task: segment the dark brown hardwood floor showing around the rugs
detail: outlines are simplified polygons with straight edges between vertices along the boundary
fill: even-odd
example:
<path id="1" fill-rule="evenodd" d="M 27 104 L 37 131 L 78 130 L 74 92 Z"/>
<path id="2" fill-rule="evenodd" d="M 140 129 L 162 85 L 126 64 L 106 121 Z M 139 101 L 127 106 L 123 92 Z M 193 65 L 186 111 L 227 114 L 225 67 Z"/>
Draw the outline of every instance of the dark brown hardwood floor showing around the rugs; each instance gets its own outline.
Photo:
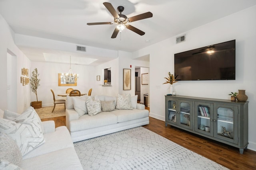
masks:
<path id="1" fill-rule="evenodd" d="M 149 110 L 149 107 L 146 107 Z M 42 121 L 54 120 L 56 127 L 66 125 L 65 116 L 42 119 Z M 170 141 L 173 141 L 189 150 L 192 150 L 218 164 L 231 170 L 256 170 L 256 152 L 244 150 L 244 154 L 239 153 L 239 149 L 230 147 L 199 135 L 195 135 L 172 127 L 165 126 L 165 122 L 149 117 L 149 124 L 144 125 L 146 129 L 153 131 Z"/>

